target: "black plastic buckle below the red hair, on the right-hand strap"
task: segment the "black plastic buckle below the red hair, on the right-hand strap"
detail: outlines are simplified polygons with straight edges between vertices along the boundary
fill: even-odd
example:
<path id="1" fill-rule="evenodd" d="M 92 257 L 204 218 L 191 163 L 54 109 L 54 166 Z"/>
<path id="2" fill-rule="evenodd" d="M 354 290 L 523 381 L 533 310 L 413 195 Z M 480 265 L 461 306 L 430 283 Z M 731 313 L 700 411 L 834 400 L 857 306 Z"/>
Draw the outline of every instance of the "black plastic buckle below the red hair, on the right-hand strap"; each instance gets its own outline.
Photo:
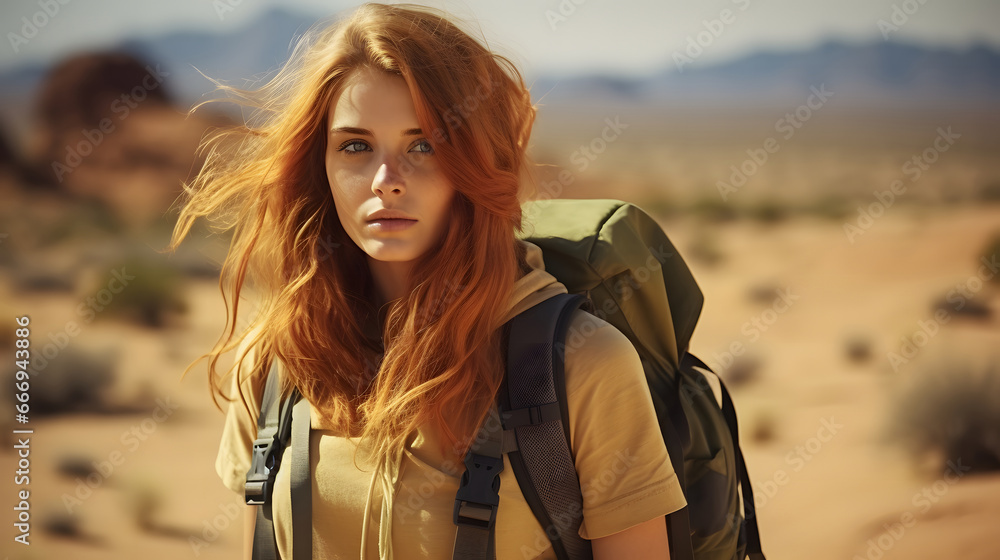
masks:
<path id="1" fill-rule="evenodd" d="M 500 471 L 503 457 L 490 457 L 469 452 L 465 455 L 465 472 L 455 495 L 455 525 L 471 525 L 491 529 L 496 523 L 500 505 Z"/>

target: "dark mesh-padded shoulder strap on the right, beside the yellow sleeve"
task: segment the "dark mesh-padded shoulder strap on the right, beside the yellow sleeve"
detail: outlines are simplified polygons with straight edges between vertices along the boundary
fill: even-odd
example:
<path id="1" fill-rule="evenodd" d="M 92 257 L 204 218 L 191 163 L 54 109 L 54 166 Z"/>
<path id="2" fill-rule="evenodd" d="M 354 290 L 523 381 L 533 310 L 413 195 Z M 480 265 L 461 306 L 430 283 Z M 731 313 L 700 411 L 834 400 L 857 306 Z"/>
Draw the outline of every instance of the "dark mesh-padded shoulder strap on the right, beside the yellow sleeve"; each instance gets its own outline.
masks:
<path id="1" fill-rule="evenodd" d="M 503 469 L 503 457 L 498 451 L 507 453 L 525 501 L 549 535 L 560 560 L 592 557 L 589 541 L 577 532 L 582 522 L 583 498 L 570 445 L 569 411 L 560 405 L 566 402 L 564 348 L 553 344 L 565 337 L 570 315 L 586 301 L 582 295 L 559 294 L 508 321 L 504 326 L 506 375 L 497 394 L 498 414 L 495 419 L 487 418 L 476 438 L 492 441 L 488 447 L 494 453 L 490 455 L 499 457 L 495 463 L 499 468 L 492 469 L 496 475 Z M 502 432 L 490 420 L 499 421 Z M 492 498 L 498 497 L 499 476 L 477 476 L 484 464 L 492 461 L 484 462 L 482 449 L 477 453 L 475 446 L 469 449 L 465 463 L 466 472 L 455 500 L 458 529 L 453 558 L 495 558 L 490 544 L 499 504 Z M 460 507 L 469 505 L 469 500 L 463 498 L 473 496 L 479 496 L 476 501 L 492 510 L 487 515 L 484 509 L 484 522 L 478 530 L 467 526 L 469 520 L 459 519 Z M 548 512 L 562 509 L 575 515 L 553 523 Z"/>

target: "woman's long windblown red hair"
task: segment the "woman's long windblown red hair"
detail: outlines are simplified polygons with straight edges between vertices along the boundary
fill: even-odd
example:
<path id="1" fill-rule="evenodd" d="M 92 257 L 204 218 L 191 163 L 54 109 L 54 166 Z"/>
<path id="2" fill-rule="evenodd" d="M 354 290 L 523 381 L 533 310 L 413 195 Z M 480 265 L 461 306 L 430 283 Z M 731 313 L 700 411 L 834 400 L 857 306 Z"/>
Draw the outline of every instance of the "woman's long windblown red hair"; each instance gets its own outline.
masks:
<path id="1" fill-rule="evenodd" d="M 406 81 L 456 193 L 440 246 L 419 259 L 408 295 L 388 310 L 384 355 L 365 336 L 379 320 L 365 254 L 340 224 L 324 167 L 327 108 L 362 68 Z M 233 232 L 220 276 L 226 328 L 199 358 L 210 359 L 213 400 L 229 400 L 220 355 L 252 332 L 245 346 L 258 359 L 247 375 L 279 359 L 285 389 L 298 387 L 343 435 L 368 440 L 376 460 L 425 425 L 443 436 L 443 451 L 463 453 L 502 379 L 499 327 L 527 269 L 516 232 L 535 108 L 520 73 L 442 12 L 364 4 L 311 29 L 259 89 L 218 85 L 226 100 L 257 110 L 203 144 L 206 163 L 185 185 L 169 247 L 198 217 Z M 237 329 L 248 280 L 260 301 Z"/>

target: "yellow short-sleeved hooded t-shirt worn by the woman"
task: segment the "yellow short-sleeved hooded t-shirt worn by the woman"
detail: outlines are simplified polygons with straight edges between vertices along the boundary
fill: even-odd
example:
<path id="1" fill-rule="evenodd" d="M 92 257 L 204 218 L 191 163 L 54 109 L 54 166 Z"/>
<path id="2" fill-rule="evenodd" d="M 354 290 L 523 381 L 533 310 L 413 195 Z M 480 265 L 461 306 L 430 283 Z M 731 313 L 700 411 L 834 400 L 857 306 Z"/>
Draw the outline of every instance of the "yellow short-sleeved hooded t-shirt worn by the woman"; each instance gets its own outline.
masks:
<path id="1" fill-rule="evenodd" d="M 566 292 L 563 284 L 545 272 L 541 249 L 522 243 L 532 271 L 515 284 L 507 317 Z M 686 501 L 660 435 L 635 348 L 614 326 L 585 311 L 574 312 L 570 329 L 586 337 L 585 344 L 568 346 L 565 358 L 570 439 L 583 491 L 580 536 L 604 537 L 684 507 Z M 253 360 L 251 349 L 244 367 Z M 257 435 L 263 382 L 259 377 L 245 381 L 239 390 L 242 399 L 229 407 L 215 466 L 225 485 L 242 495 Z M 381 536 L 390 542 L 395 560 L 450 559 L 456 530 L 452 511 L 464 465 L 443 459 L 434 434 L 418 430 L 399 462 L 385 467 L 398 473 L 398 482 L 388 489 L 385 500 L 383 489 L 388 487 L 374 483 L 382 467 L 365 464 L 365 455 L 359 452 L 359 464 L 365 470 L 355 468 L 351 461 L 354 444 L 323 429 L 315 409 L 312 413 L 313 558 L 360 558 L 365 533 L 367 558 L 380 558 Z M 282 558 L 291 558 L 292 548 L 290 460 L 291 453 L 285 453 L 272 506 Z M 363 531 L 366 506 L 368 527 Z M 385 526 L 382 518 L 388 520 Z M 382 554 L 381 558 L 388 557 L 385 551 Z M 500 474 L 496 557 L 555 559 L 506 456 Z"/>

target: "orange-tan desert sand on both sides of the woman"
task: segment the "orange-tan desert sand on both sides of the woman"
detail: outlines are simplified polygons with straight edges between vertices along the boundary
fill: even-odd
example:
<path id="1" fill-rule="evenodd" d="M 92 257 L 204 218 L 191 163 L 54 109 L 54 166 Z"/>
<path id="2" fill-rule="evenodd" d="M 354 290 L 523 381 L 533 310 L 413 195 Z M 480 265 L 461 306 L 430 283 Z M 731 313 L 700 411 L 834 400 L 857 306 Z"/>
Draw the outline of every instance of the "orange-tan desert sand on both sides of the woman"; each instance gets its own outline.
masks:
<path id="1" fill-rule="evenodd" d="M 706 294 L 692 350 L 725 366 L 725 352 L 740 342 L 746 354 L 737 360 L 757 364 L 747 380 L 730 383 L 770 560 L 1000 557 L 993 534 L 1000 475 L 920 467 L 881 437 L 894 391 L 923 364 L 996 352 L 1000 290 L 993 285 L 976 294 L 992 306 L 992 319 L 953 317 L 898 371 L 887 357 L 900 337 L 919 330 L 918 321 L 934 317 L 936 299 L 976 274 L 985 240 L 1000 227 L 1000 206 L 894 207 L 854 244 L 843 222 L 829 219 L 662 223 L 682 256 L 705 235 L 722 255 L 716 264 L 688 257 Z M 5 316 L 30 315 L 38 339 L 78 318 L 78 295 L 15 297 L 9 283 L 0 289 Z M 784 290 L 791 305 L 768 315 L 776 319 L 759 336 L 744 330 L 772 307 L 774 290 Z M 131 412 L 31 420 L 31 545 L 15 543 L 5 523 L 5 557 L 239 557 L 242 500 L 213 466 L 223 415 L 209 398 L 204 362 L 180 376 L 221 333 L 224 308 L 210 279 L 189 280 L 185 293 L 188 313 L 166 328 L 95 320 L 72 339 L 91 350 L 117 348 L 108 399 L 140 404 Z M 847 358 L 852 336 L 868 341 L 867 361 Z M 720 369 L 724 378 L 735 371 Z M 66 457 L 98 463 L 93 488 L 85 475 L 59 472 Z M 5 445 L 0 471 L 9 476 L 16 460 Z M 17 503 L 12 484 L 0 499 Z M 75 522 L 63 521 L 62 532 L 73 534 L 46 528 L 70 509 Z"/>

